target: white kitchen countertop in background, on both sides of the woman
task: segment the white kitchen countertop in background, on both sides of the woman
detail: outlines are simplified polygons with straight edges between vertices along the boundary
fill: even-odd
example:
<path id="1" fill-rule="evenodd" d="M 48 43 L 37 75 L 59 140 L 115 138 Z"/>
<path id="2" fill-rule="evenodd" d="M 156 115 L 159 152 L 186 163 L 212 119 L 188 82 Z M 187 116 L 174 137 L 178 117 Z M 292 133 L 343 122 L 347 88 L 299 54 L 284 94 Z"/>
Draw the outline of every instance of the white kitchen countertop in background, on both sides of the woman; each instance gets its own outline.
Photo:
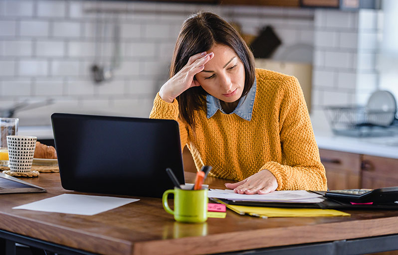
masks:
<path id="1" fill-rule="evenodd" d="M 349 137 L 334 135 L 330 129 L 314 128 L 318 147 L 380 157 L 398 158 L 398 135 L 387 137 Z M 19 135 L 34 135 L 38 139 L 52 139 L 51 126 L 19 127 Z"/>

